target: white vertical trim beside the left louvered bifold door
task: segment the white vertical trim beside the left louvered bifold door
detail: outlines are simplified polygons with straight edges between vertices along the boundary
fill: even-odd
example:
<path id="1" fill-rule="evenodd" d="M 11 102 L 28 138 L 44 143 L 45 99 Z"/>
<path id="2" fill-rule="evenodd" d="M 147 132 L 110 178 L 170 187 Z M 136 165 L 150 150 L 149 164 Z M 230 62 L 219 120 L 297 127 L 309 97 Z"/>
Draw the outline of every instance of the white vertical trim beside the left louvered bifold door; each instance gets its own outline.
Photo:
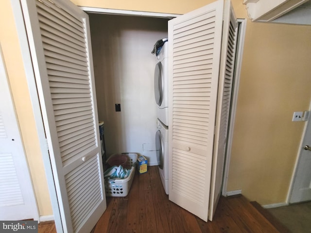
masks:
<path id="1" fill-rule="evenodd" d="M 43 120 L 41 115 L 41 108 L 39 104 L 39 99 L 37 95 L 37 87 L 35 83 L 35 74 L 33 71 L 33 65 L 29 50 L 29 44 L 27 39 L 27 33 L 24 24 L 24 17 L 21 10 L 21 5 L 19 0 L 11 0 L 13 14 L 15 17 L 17 34 L 19 39 L 19 45 L 21 49 L 21 54 L 24 63 L 25 75 L 28 83 L 28 89 L 30 93 L 30 98 L 33 106 L 34 117 L 35 117 L 35 125 L 38 133 L 39 144 L 40 144 L 40 152 L 42 154 L 44 168 L 47 176 L 47 182 L 49 187 L 50 198 L 52 202 L 53 216 L 55 222 L 61 222 L 60 212 L 58 208 L 58 200 L 56 196 L 56 190 L 54 185 L 54 179 L 52 174 L 52 166 L 50 162 L 50 154 L 47 148 L 47 141 L 43 126 Z M 57 232 L 63 232 L 62 226 L 56 225 Z"/>

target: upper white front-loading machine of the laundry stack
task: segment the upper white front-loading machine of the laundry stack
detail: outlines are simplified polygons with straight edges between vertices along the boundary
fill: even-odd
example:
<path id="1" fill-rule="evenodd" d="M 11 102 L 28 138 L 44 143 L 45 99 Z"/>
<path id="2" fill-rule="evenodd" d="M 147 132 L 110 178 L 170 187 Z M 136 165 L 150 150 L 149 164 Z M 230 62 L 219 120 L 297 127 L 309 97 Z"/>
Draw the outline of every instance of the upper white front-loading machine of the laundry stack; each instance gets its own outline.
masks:
<path id="1" fill-rule="evenodd" d="M 169 126 L 168 102 L 168 43 L 165 42 L 157 55 L 155 65 L 155 102 L 157 104 L 157 118 L 164 125 Z"/>

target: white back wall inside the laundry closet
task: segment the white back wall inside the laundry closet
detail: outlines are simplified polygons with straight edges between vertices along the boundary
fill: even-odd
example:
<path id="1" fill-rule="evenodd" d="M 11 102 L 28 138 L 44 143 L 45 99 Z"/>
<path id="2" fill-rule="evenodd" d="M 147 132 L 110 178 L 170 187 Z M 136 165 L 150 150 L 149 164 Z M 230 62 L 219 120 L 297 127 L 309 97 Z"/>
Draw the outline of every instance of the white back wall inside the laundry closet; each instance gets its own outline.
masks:
<path id="1" fill-rule="evenodd" d="M 157 165 L 156 104 L 151 54 L 167 37 L 167 19 L 90 15 L 99 119 L 104 120 L 107 155 L 137 152 Z M 115 112 L 115 104 L 121 112 Z"/>

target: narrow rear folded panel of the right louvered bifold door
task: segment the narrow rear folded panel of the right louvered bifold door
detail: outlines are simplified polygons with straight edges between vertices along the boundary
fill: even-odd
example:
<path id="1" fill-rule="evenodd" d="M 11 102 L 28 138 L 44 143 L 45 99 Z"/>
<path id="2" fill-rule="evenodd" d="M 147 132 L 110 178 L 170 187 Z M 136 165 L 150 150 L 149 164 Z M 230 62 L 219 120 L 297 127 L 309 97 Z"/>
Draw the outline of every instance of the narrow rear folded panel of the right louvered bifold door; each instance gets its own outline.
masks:
<path id="1" fill-rule="evenodd" d="M 213 168 L 208 219 L 212 220 L 222 192 L 225 150 L 229 127 L 231 90 L 235 67 L 238 21 L 229 0 L 225 1 L 222 52 L 219 74 Z"/>

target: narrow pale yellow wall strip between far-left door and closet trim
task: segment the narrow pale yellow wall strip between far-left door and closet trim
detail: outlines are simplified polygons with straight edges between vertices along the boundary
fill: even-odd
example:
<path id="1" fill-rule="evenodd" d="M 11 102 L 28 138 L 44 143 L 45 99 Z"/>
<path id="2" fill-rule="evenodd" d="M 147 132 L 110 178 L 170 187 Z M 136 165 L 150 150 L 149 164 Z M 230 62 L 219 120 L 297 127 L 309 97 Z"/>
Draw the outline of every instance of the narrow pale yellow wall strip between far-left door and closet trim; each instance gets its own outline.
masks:
<path id="1" fill-rule="evenodd" d="M 41 216 L 52 215 L 50 195 L 38 136 L 35 130 L 35 118 L 32 111 L 10 0 L 1 1 L 0 43 L 16 107 L 22 141 L 35 188 L 39 214 Z"/>

